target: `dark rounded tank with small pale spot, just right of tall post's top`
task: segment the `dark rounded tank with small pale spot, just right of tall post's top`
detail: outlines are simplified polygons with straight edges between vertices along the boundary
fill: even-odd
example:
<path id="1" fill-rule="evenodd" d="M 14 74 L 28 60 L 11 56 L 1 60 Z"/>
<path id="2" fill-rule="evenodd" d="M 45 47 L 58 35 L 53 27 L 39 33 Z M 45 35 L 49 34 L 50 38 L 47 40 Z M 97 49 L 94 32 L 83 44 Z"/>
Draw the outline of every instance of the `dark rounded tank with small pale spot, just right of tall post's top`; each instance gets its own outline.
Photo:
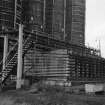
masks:
<path id="1" fill-rule="evenodd" d="M 23 22 L 28 30 L 43 30 L 44 0 L 23 1 Z"/>

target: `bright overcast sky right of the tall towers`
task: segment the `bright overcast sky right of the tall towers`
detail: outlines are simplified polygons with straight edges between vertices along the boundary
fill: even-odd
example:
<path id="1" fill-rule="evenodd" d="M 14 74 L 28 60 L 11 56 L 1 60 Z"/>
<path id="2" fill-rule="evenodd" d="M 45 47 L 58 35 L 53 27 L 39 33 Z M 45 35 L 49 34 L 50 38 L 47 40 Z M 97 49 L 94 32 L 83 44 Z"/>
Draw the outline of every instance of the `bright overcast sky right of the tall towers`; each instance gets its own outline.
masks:
<path id="1" fill-rule="evenodd" d="M 105 0 L 86 0 L 86 44 L 99 48 L 105 57 Z"/>

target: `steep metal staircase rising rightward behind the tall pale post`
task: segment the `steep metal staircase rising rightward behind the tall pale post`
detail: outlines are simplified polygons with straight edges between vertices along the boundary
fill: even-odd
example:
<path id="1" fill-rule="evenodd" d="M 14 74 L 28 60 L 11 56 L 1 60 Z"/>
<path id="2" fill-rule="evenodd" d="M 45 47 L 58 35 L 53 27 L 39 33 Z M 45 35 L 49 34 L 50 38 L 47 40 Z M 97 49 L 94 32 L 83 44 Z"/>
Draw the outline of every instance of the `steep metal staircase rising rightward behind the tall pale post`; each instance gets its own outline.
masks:
<path id="1" fill-rule="evenodd" d="M 23 55 L 32 46 L 33 46 L 32 35 L 29 35 L 27 38 L 24 39 L 24 42 L 23 42 Z M 5 85 L 6 80 L 11 75 L 14 68 L 16 67 L 17 58 L 18 58 L 18 43 L 16 43 L 14 45 L 14 47 L 7 54 L 5 63 L 3 63 L 3 60 L 0 63 L 1 68 L 3 68 L 3 65 L 5 65 L 5 69 L 1 70 L 1 85 L 2 85 L 2 87 Z"/>

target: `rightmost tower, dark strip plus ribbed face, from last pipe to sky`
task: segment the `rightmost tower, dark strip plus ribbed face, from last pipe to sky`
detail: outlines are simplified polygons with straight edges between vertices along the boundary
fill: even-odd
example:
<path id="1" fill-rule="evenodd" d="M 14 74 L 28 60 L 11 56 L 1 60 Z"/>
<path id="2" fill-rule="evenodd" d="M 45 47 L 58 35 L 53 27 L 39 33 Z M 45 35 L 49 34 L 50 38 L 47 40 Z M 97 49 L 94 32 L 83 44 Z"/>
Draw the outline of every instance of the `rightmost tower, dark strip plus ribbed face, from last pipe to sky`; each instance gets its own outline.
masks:
<path id="1" fill-rule="evenodd" d="M 66 0 L 66 41 L 85 44 L 85 0 Z"/>

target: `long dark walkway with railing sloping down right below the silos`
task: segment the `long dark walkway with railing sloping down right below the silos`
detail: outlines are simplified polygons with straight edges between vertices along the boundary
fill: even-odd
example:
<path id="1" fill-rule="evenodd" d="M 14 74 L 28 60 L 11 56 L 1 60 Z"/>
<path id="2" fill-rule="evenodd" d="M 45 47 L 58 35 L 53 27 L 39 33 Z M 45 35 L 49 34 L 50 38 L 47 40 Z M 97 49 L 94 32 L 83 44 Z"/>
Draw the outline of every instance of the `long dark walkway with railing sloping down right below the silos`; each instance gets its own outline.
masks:
<path id="1" fill-rule="evenodd" d="M 54 47 L 54 45 L 56 45 L 57 47 L 59 47 L 59 49 L 60 48 L 68 49 L 68 51 L 72 51 L 73 54 L 76 54 L 76 55 L 100 57 L 100 55 L 99 55 L 100 51 L 99 50 L 93 49 L 93 48 L 88 48 L 85 45 L 79 46 L 77 44 L 67 43 L 64 40 L 57 40 L 51 34 L 36 31 L 36 30 L 34 30 L 33 32 L 24 30 L 24 32 L 26 32 L 28 34 L 33 34 L 33 35 L 36 34 L 35 36 L 39 39 L 37 42 L 40 43 L 40 41 L 41 41 L 42 45 L 44 45 L 44 42 L 45 42 L 46 47 L 48 47 L 48 46 Z"/>

